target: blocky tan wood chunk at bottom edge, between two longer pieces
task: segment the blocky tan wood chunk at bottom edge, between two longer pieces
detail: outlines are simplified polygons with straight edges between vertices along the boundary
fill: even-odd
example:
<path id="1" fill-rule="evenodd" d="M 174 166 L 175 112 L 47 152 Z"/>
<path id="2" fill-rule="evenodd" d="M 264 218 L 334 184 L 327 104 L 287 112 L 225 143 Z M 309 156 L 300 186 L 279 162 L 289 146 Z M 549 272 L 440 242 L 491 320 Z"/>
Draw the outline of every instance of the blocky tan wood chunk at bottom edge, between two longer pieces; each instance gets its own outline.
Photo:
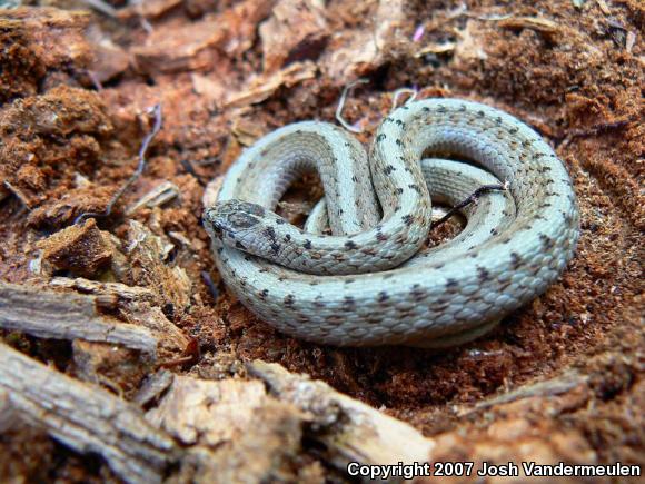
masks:
<path id="1" fill-rule="evenodd" d="M 310 416 L 257 379 L 176 376 L 147 417 L 187 446 L 176 482 L 322 482 L 302 465 Z"/>

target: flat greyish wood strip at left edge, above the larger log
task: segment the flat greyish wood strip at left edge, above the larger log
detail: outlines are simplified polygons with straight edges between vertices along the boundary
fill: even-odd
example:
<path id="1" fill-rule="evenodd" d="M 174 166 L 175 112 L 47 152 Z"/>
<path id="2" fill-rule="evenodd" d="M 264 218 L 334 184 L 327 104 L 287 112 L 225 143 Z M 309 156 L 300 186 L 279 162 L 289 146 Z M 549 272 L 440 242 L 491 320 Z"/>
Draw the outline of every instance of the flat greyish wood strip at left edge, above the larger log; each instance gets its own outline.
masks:
<path id="1" fill-rule="evenodd" d="M 112 343 L 150 355 L 157 339 L 141 326 L 97 313 L 96 296 L 0 283 L 0 327 L 42 338 Z"/>

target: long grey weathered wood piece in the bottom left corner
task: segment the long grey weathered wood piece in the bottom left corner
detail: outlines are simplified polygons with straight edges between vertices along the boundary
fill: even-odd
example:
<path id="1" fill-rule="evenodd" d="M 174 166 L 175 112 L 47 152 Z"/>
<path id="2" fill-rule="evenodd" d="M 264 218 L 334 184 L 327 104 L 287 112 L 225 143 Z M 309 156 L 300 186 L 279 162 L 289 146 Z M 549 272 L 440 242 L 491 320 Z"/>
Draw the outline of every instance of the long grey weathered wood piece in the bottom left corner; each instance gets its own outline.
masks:
<path id="1" fill-rule="evenodd" d="M 142 413 L 0 344 L 0 393 L 21 419 L 80 453 L 97 453 L 127 482 L 160 482 L 177 458 L 173 441 Z"/>

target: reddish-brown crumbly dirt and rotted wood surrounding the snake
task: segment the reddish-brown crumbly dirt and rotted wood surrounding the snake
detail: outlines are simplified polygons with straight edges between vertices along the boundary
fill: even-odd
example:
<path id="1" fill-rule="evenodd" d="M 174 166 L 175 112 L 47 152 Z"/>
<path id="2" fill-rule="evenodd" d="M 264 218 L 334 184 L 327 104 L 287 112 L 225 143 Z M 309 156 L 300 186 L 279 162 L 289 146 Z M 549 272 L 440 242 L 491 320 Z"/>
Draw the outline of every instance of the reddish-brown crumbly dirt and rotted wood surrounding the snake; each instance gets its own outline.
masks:
<path id="1" fill-rule="evenodd" d="M 160 344 L 158 366 L 218 379 L 246 378 L 240 363 L 280 363 L 410 423 L 439 443 L 435 458 L 645 465 L 643 2 L 111 7 L 105 14 L 48 0 L 0 11 L 0 280 L 151 288 L 185 338 Z M 576 257 L 544 296 L 479 340 L 446 352 L 302 343 L 256 318 L 219 281 L 200 221 L 206 185 L 277 127 L 335 122 L 343 88 L 358 77 L 369 83 L 351 92 L 345 117 L 365 128 L 364 142 L 393 92 L 415 87 L 419 97 L 517 116 L 572 175 L 582 211 Z M 141 176 L 109 216 L 75 226 L 82 214 L 103 214 L 135 172 L 158 103 L 162 128 Z M 161 184 L 167 198 L 136 206 Z M 305 180 L 287 208 L 306 209 L 302 198 L 319 195 L 311 187 Z M 128 251 L 131 220 L 167 247 L 162 268 Z M 187 276 L 181 289 L 175 268 Z M 68 343 L 9 330 L 0 338 L 81 373 Z M 128 362 L 96 372 L 129 399 L 147 374 L 132 369 L 136 355 Z M 39 435 L 1 436 L 0 470 L 27 480 L 117 478 L 99 457 Z"/>

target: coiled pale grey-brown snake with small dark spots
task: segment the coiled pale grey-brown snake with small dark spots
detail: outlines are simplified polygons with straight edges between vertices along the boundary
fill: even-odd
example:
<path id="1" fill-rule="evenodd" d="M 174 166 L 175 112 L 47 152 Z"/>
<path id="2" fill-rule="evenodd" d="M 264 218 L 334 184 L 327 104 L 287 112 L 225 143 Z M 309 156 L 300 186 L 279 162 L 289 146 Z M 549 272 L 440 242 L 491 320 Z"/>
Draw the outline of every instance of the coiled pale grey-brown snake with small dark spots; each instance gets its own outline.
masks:
<path id="1" fill-rule="evenodd" d="M 325 196 L 299 227 L 276 210 L 308 172 Z M 502 181 L 463 209 L 455 238 L 429 246 L 433 203 Z M 450 98 L 397 108 L 368 151 L 329 122 L 278 128 L 230 166 L 202 221 L 245 306 L 334 346 L 478 338 L 555 283 L 579 238 L 572 179 L 550 146 L 503 110 Z"/>

